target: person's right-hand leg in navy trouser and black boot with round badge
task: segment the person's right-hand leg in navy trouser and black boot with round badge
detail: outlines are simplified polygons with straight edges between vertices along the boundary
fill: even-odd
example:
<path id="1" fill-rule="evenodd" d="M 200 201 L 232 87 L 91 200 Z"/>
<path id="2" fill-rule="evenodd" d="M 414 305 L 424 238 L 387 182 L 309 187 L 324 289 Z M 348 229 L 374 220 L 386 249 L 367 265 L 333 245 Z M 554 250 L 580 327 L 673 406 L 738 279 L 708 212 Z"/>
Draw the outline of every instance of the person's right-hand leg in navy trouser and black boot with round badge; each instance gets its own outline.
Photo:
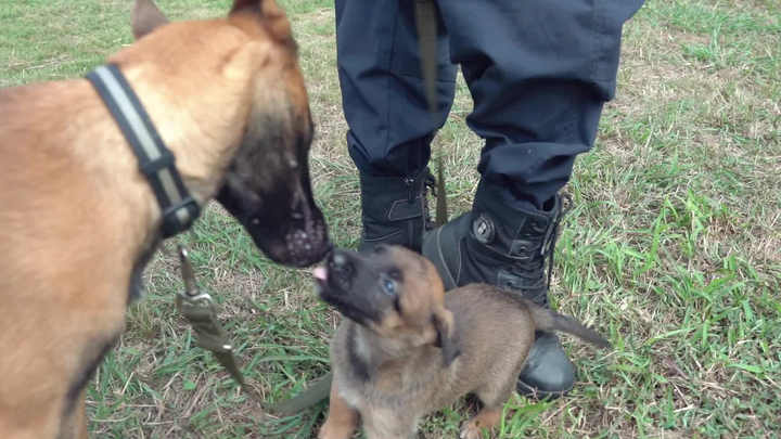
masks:
<path id="1" fill-rule="evenodd" d="M 558 193 L 593 145 L 615 93 L 622 27 L 642 2 L 438 1 L 474 100 L 468 125 L 485 140 L 472 210 L 423 244 L 448 288 L 487 282 L 548 306 Z M 529 356 L 520 392 L 572 389 L 574 367 L 555 335 L 539 336 Z"/>

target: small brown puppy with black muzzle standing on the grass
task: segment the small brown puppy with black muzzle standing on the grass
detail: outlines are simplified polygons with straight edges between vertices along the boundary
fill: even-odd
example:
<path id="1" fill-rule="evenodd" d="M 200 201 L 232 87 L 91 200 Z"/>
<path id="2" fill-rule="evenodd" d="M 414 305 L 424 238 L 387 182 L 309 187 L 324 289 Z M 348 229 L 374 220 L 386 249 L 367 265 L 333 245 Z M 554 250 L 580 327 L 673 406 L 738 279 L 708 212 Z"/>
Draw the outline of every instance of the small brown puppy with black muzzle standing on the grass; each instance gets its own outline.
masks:
<path id="1" fill-rule="evenodd" d="M 316 272 L 320 297 L 347 319 L 331 344 L 321 439 L 353 437 L 359 417 L 369 439 L 409 439 L 422 416 L 472 392 L 484 408 L 461 437 L 478 438 L 501 419 L 535 331 L 610 347 L 574 320 L 500 288 L 473 284 L 445 294 L 434 266 L 400 246 L 367 256 L 336 250 L 327 267 Z"/>

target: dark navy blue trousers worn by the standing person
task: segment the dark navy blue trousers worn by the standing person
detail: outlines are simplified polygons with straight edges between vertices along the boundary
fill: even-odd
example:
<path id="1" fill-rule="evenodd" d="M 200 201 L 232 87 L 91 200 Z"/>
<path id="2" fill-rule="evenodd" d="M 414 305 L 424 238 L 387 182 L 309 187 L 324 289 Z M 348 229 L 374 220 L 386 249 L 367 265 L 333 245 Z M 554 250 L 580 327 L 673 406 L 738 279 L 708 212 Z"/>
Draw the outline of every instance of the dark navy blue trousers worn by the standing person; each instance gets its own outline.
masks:
<path id="1" fill-rule="evenodd" d="M 414 177 L 450 112 L 460 65 L 485 140 L 477 169 L 542 208 L 589 151 L 616 90 L 622 27 L 643 0 L 438 0 L 439 108 L 431 118 L 413 0 L 335 0 L 347 144 L 374 177 Z"/>

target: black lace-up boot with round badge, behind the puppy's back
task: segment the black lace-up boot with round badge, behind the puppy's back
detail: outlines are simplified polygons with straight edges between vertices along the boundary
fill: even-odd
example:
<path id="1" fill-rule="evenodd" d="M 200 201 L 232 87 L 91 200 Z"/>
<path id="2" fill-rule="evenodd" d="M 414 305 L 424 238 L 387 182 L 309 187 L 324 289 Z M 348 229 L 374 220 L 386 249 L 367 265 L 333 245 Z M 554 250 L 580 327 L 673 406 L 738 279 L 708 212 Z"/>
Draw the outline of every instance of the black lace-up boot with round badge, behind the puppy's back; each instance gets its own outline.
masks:
<path id="1" fill-rule="evenodd" d="M 567 208 L 572 201 L 567 197 Z M 559 222 L 566 210 L 556 195 L 545 211 L 510 206 L 481 181 L 472 210 L 427 233 L 423 256 L 436 266 L 446 289 L 488 283 L 549 307 L 548 284 Z M 546 276 L 546 260 L 550 259 Z M 558 398 L 572 390 L 575 369 L 555 334 L 537 334 L 521 372 L 521 395 Z"/>

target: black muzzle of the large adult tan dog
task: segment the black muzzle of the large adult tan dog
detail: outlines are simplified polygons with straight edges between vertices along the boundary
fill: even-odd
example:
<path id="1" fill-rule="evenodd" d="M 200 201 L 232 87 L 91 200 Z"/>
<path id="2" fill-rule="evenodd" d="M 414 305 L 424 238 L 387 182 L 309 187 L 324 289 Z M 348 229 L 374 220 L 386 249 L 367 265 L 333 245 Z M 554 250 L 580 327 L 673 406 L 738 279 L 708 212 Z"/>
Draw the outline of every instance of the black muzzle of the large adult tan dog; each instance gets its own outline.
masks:
<path id="1" fill-rule="evenodd" d="M 308 154 L 308 113 L 265 113 L 253 118 L 216 199 L 278 263 L 309 267 L 333 247 L 315 203 Z"/>

